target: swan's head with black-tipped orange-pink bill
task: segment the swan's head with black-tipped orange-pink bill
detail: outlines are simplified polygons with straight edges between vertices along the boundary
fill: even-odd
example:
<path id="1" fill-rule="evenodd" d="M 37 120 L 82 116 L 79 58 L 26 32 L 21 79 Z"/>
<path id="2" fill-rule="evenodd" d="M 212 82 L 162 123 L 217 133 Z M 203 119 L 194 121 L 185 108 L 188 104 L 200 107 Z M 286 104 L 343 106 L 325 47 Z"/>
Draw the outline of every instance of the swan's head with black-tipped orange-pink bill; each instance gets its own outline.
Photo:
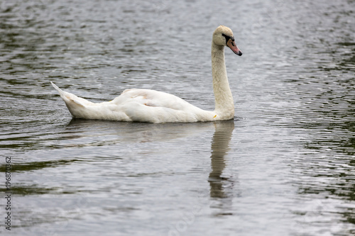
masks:
<path id="1" fill-rule="evenodd" d="M 241 56 L 241 50 L 236 46 L 233 32 L 226 26 L 218 26 L 214 30 L 212 41 L 216 45 L 229 47 L 236 55 Z"/>

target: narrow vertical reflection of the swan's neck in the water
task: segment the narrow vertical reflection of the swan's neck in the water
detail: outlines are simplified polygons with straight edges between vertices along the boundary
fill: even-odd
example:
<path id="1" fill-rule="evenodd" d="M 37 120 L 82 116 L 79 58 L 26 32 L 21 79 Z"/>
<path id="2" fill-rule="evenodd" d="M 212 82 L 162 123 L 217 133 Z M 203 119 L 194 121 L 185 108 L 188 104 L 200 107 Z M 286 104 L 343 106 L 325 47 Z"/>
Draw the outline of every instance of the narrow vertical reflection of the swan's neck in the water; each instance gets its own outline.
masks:
<path id="1" fill-rule="evenodd" d="M 211 198 L 227 198 L 226 186 L 233 186 L 233 181 L 222 176 L 226 161 L 224 156 L 229 150 L 229 141 L 234 130 L 234 120 L 215 123 L 215 131 L 211 145 L 211 168 L 209 186 Z M 230 190 L 230 189 L 229 189 Z M 231 191 L 230 191 L 231 192 Z"/>

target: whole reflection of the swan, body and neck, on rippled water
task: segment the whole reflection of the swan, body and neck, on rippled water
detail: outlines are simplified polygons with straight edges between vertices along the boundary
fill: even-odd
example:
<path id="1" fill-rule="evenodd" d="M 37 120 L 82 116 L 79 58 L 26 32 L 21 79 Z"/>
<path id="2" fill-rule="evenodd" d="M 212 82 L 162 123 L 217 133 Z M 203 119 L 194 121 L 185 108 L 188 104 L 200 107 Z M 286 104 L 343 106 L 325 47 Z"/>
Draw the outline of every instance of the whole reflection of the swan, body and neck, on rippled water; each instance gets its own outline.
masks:
<path id="1" fill-rule="evenodd" d="M 224 156 L 229 151 L 229 142 L 234 130 L 234 120 L 207 123 L 125 123 L 107 120 L 73 119 L 67 125 L 65 139 L 77 139 L 80 147 L 112 145 L 116 143 L 142 143 L 177 138 L 191 138 L 204 130 L 214 129 L 211 143 L 211 169 L 209 173 L 209 195 L 211 198 L 231 201 L 234 179 L 223 176 L 226 167 Z M 105 138 L 107 137 L 107 138 Z M 72 145 L 72 142 L 71 142 Z M 158 144 L 157 144 L 158 145 Z"/>

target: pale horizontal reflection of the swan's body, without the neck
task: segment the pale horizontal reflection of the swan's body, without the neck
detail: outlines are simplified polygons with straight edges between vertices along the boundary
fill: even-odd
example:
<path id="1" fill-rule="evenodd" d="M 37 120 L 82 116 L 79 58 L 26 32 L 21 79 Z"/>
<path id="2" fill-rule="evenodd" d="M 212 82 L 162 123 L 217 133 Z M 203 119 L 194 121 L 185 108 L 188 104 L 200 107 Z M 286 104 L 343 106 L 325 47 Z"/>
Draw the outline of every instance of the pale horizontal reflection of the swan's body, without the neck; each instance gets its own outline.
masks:
<path id="1" fill-rule="evenodd" d="M 70 135 L 65 139 L 77 139 L 87 137 L 92 140 L 87 145 L 98 145 L 101 140 L 103 145 L 118 142 L 142 143 L 160 142 L 175 140 L 178 138 L 192 137 L 198 135 L 201 130 L 211 130 L 213 123 L 130 123 L 107 120 L 82 120 L 72 119 L 68 123 L 66 130 Z M 80 134 L 80 135 L 78 135 Z M 109 137 L 110 141 L 95 137 Z M 83 145 L 83 143 L 80 143 Z"/>

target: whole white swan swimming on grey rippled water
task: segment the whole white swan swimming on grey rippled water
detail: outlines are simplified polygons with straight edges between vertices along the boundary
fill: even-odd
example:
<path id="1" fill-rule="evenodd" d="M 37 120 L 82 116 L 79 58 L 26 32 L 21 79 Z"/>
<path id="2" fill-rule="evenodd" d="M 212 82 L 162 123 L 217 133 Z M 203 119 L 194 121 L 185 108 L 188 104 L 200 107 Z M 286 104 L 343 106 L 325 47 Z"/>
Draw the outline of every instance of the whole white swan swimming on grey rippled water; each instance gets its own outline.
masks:
<path id="1" fill-rule="evenodd" d="M 232 30 L 219 26 L 214 30 L 211 50 L 214 111 L 204 111 L 178 96 L 150 89 L 126 89 L 112 101 L 92 103 L 62 91 L 53 82 L 50 83 L 57 89 L 74 118 L 148 123 L 230 120 L 234 118 L 234 101 L 224 62 L 225 46 L 236 55 L 242 55 L 236 46 Z"/>

